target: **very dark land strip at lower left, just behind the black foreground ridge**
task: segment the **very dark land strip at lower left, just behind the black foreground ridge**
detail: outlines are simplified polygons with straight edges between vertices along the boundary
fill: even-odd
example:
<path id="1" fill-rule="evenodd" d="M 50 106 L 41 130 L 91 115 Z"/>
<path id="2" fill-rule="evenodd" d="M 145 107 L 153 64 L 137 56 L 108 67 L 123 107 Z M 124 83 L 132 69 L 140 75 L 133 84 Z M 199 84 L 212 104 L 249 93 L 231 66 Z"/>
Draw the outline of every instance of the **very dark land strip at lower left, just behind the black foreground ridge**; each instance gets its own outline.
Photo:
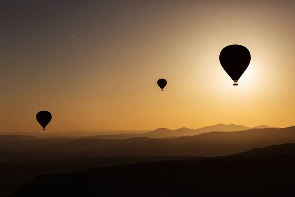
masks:
<path id="1" fill-rule="evenodd" d="M 98 157 L 63 161 L 0 163 L 0 197 L 15 192 L 41 174 L 74 173 L 89 168 L 188 158 L 193 157 Z"/>

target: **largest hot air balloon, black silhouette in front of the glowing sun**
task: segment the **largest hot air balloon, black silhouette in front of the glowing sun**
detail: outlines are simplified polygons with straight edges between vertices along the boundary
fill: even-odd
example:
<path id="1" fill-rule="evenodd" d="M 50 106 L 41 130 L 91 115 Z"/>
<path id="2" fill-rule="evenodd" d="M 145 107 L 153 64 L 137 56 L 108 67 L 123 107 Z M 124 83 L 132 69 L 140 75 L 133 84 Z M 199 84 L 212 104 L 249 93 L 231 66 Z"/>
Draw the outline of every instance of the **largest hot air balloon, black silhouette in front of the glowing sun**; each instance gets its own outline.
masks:
<path id="1" fill-rule="evenodd" d="M 219 62 L 223 69 L 233 79 L 237 86 L 238 79 L 245 72 L 251 61 L 249 50 L 238 44 L 224 47 L 219 55 Z"/>

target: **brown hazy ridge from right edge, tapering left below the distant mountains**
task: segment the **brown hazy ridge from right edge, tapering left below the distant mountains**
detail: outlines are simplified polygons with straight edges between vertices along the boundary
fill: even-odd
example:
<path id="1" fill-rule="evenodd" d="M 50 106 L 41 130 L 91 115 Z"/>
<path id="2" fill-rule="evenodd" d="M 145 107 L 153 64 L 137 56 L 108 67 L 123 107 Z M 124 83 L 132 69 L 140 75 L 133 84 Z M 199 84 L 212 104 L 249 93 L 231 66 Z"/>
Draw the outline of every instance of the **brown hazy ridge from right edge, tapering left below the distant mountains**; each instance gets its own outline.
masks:
<path id="1" fill-rule="evenodd" d="M 175 139 L 148 139 L 139 143 L 117 144 L 106 152 L 114 156 L 223 156 L 274 144 L 295 143 L 295 127 L 208 132 Z"/>

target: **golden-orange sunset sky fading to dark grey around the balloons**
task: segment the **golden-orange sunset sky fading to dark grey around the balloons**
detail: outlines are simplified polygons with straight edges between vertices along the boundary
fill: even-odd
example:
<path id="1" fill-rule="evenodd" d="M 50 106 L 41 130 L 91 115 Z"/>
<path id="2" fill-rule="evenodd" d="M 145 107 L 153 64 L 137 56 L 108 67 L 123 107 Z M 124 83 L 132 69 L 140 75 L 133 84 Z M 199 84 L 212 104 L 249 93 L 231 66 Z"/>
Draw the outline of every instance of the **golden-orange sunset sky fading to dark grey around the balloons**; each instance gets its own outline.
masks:
<path id="1" fill-rule="evenodd" d="M 295 125 L 295 0 L 237 1 L 1 0 L 0 131 Z"/>

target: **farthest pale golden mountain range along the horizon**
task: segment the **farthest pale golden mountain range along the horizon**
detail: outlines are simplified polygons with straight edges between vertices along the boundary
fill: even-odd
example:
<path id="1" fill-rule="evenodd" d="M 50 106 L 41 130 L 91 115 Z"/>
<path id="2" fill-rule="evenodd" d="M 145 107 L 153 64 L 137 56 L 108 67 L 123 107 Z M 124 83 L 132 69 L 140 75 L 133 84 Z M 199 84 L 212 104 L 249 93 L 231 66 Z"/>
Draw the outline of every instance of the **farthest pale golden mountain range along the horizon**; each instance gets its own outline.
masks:
<path id="1" fill-rule="evenodd" d="M 180 137 L 180 136 L 192 136 L 198 135 L 203 132 L 211 132 L 211 131 L 245 131 L 250 129 L 266 129 L 266 128 L 276 128 L 269 127 L 266 125 L 261 125 L 257 127 L 246 127 L 243 125 L 225 125 L 218 124 L 213 126 L 202 127 L 199 129 L 188 129 L 188 128 L 180 128 L 177 130 L 170 130 L 167 128 L 159 128 L 153 131 L 59 131 L 59 132 L 2 132 L 0 135 L 32 135 L 39 137 L 85 137 L 85 136 L 93 136 L 97 139 L 127 139 L 130 137 L 151 137 L 151 138 L 171 138 L 171 137 Z"/>

